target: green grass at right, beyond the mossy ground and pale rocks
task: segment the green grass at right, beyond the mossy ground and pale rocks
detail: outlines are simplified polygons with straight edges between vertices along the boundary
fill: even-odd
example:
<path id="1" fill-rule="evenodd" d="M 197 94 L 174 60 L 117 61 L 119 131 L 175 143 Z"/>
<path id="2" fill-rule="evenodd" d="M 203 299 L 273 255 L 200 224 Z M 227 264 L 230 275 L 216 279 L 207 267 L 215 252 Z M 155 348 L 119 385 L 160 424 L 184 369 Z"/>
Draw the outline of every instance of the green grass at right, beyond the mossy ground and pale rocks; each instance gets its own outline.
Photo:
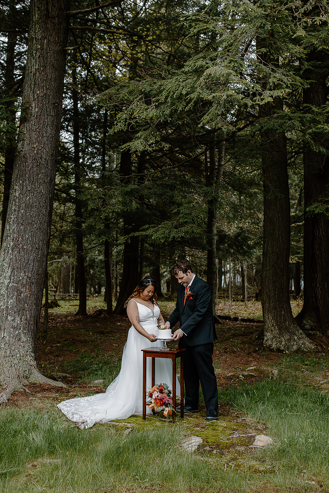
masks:
<path id="1" fill-rule="evenodd" d="M 304 477 L 316 477 L 329 491 L 329 395 L 312 388 L 263 381 L 252 387 L 220 392 L 249 418 L 266 423 L 273 447 L 259 458 L 277 471 L 275 484 L 298 485 Z M 303 491 L 303 490 L 302 490 Z"/>

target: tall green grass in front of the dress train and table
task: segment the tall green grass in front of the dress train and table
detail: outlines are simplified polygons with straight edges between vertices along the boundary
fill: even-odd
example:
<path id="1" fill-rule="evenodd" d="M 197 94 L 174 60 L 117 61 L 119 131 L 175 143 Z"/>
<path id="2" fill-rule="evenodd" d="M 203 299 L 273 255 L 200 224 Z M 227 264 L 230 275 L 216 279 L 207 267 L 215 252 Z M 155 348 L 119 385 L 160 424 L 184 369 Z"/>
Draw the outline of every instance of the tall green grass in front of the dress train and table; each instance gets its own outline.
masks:
<path id="1" fill-rule="evenodd" d="M 64 424 L 64 425 L 63 425 Z M 181 451 L 179 426 L 78 430 L 62 415 L 4 410 L 0 420 L 1 492 L 105 492 L 148 485 L 183 491 L 211 485 L 214 468 Z"/>

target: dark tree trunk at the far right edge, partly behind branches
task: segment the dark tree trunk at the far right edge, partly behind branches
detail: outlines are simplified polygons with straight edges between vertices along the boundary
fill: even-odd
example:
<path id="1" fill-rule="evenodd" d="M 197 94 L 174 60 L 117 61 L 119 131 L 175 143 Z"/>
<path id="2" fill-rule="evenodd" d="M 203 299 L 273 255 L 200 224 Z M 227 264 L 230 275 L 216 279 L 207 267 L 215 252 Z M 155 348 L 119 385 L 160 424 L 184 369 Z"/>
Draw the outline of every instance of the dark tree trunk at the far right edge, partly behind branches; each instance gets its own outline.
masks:
<path id="1" fill-rule="evenodd" d="M 306 72 L 309 86 L 303 90 L 303 103 L 313 107 L 325 107 L 329 74 L 328 55 L 319 51 L 311 52 L 308 62 L 312 69 Z M 310 118 L 309 127 L 312 127 Z M 308 129 L 306 129 L 308 131 Z M 314 131 L 313 131 L 314 135 Z M 315 135 L 314 139 L 325 145 L 326 137 Z M 328 142 L 328 139 L 327 139 Z M 329 332 L 329 214 L 311 212 L 307 208 L 326 202 L 329 188 L 329 157 L 316 152 L 306 143 L 303 149 L 304 161 L 304 303 L 296 317 L 303 329 Z M 328 198 L 327 198 L 328 200 Z"/>

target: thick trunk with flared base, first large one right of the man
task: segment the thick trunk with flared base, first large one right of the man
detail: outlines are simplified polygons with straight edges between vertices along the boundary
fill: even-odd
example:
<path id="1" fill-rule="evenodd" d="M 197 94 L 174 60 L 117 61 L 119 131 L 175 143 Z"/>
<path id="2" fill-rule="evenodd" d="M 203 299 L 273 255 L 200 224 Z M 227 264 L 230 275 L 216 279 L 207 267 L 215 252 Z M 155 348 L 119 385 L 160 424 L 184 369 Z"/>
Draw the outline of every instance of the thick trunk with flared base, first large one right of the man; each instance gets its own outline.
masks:
<path id="1" fill-rule="evenodd" d="M 282 102 L 265 103 L 259 116 L 271 118 Z M 290 199 L 286 137 L 274 130 L 261 132 L 264 193 L 261 306 L 264 346 L 286 352 L 309 351 L 313 343 L 292 316 L 289 297 Z"/>

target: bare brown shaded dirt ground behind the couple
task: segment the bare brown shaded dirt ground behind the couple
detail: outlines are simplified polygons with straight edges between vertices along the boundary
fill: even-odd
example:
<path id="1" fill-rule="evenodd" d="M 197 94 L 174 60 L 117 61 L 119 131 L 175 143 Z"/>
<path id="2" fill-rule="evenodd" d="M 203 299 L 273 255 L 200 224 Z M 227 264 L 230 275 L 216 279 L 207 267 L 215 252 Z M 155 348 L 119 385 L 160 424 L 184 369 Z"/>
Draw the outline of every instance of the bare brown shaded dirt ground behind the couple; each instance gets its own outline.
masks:
<path id="1" fill-rule="evenodd" d="M 94 310 L 88 317 L 53 314 L 50 311 L 47 335 L 40 333 L 37 341 L 37 365 L 41 373 L 54 380 L 60 380 L 67 388 L 43 384 L 30 384 L 25 390 L 14 392 L 9 405 L 20 407 L 31 404 L 31 393 L 42 401 L 56 396 L 74 397 L 84 392 L 104 391 L 103 387 L 79 381 L 79 374 L 65 374 L 66 362 L 81 352 L 105 353 L 113 362 L 121 360 L 130 322 L 123 316 L 104 316 Z M 165 319 L 169 316 L 163 310 Z M 40 327 L 43 327 L 41 318 Z M 219 388 L 240 385 L 241 381 L 252 384 L 268 378 L 281 355 L 262 347 L 262 323 L 223 321 L 216 326 L 218 340 L 214 344 L 214 367 Z M 329 338 L 313 337 L 320 351 L 327 352 Z M 171 342 L 175 347 L 177 343 Z M 78 385 L 77 385 L 77 381 Z M 31 393 L 30 393 L 31 392 Z M 39 407 L 39 406 L 38 406 Z"/>

